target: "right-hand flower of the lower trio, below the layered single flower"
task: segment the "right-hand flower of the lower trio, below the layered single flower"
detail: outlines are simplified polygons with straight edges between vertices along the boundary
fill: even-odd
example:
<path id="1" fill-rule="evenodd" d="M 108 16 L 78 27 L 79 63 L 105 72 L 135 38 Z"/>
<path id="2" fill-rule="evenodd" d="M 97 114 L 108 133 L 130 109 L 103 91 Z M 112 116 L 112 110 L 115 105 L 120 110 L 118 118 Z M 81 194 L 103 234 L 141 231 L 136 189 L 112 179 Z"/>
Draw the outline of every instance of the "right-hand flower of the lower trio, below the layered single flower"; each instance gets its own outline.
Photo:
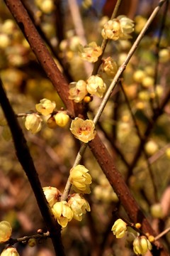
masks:
<path id="1" fill-rule="evenodd" d="M 73 218 L 79 221 L 82 220 L 83 214 L 86 213 L 86 211 L 91 210 L 89 203 L 86 201 L 86 199 L 84 199 L 78 193 L 74 193 L 70 197 L 68 203 L 72 208 L 74 214 Z"/>

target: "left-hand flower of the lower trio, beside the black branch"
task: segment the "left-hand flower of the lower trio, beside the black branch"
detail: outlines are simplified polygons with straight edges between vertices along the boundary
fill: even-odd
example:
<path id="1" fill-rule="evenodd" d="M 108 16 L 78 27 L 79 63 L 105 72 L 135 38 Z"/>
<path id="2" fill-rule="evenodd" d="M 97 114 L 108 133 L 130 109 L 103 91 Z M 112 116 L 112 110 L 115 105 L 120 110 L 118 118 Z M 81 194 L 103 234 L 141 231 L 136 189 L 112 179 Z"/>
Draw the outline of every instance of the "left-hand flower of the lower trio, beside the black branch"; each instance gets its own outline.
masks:
<path id="1" fill-rule="evenodd" d="M 50 207 L 54 206 L 54 204 L 57 203 L 57 201 L 59 201 L 59 198 L 61 196 L 60 191 L 57 188 L 51 186 L 44 187 L 42 189 L 45 193 L 47 202 L 50 204 Z"/>

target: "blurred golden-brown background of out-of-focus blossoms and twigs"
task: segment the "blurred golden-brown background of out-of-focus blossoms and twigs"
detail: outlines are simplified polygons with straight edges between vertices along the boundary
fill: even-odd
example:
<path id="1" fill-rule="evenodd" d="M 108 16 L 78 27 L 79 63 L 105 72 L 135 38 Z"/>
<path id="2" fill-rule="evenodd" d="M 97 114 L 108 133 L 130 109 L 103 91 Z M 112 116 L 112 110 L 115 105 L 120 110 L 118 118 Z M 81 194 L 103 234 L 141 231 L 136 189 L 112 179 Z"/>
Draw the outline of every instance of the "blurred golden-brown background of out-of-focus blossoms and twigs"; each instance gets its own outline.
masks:
<path id="1" fill-rule="evenodd" d="M 85 45 L 96 41 L 101 45 L 101 29 L 111 17 L 116 1 L 22 2 L 67 81 L 86 80 L 93 64 L 81 60 L 79 43 Z M 135 31 L 129 41 L 109 42 L 103 58 L 111 56 L 120 66 L 157 4 L 158 1 L 154 0 L 123 0 L 118 15 L 132 18 Z M 170 225 L 169 102 L 166 102 L 162 112 L 159 111 L 162 100 L 169 93 L 169 26 L 169 8 L 164 5 L 123 73 L 124 90 L 120 87 L 115 89 L 97 127 L 115 165 L 157 233 Z M 111 83 L 101 69 L 99 74 L 107 85 Z M 16 114 L 35 111 L 35 104 L 42 98 L 55 101 L 57 110 L 64 107 L 4 1 L 0 1 L 0 75 Z M 94 117 L 100 103 L 101 99 L 94 97 L 89 105 L 89 118 Z M 128 105 L 140 134 L 145 134 L 148 125 L 153 123 L 152 129 L 145 134 L 143 146 Z M 158 117 L 153 119 L 157 111 Z M 70 134 L 69 124 L 55 129 L 44 124 L 38 134 L 31 134 L 24 127 L 23 117 L 18 119 L 42 187 L 54 186 L 62 192 L 80 146 Z M 0 125 L 0 220 L 11 223 L 13 238 L 33 235 L 38 228 L 46 231 L 28 179 L 18 163 L 1 108 Z M 118 215 L 128 217 L 89 149 L 81 164 L 90 170 L 93 178 L 92 193 L 86 198 L 91 212 L 86 213 L 81 223 L 72 220 L 62 230 L 66 255 L 132 255 L 130 238 L 116 240 L 111 233 L 115 209 Z M 167 234 L 163 243 L 170 251 L 169 242 Z M 22 256 L 54 255 L 50 240 L 40 240 L 35 247 L 27 244 L 16 247 Z M 3 248 L 1 246 L 0 251 Z"/>

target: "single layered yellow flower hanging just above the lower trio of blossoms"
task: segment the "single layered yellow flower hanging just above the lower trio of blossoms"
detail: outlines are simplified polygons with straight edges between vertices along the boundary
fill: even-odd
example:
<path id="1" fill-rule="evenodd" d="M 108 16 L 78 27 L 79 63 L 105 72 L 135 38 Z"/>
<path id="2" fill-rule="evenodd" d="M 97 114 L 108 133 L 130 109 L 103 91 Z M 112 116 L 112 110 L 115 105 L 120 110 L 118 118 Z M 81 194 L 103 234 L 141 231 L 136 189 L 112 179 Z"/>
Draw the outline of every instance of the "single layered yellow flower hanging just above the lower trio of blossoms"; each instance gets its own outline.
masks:
<path id="1" fill-rule="evenodd" d="M 88 174 L 89 170 L 83 165 L 78 164 L 70 170 L 69 181 L 73 185 L 74 191 L 78 193 L 91 193 L 91 175 Z"/>

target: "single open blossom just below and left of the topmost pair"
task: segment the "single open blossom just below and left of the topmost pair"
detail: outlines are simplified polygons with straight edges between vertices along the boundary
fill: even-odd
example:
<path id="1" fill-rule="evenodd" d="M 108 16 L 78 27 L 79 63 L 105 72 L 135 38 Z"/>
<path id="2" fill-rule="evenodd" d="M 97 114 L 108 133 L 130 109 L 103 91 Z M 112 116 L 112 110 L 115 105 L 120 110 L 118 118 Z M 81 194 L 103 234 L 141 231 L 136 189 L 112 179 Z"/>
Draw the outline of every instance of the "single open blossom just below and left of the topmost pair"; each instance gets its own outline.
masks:
<path id="1" fill-rule="evenodd" d="M 96 42 L 91 42 L 87 46 L 79 45 L 79 56 L 91 63 L 96 62 L 101 53 L 101 47 L 97 46 Z"/>

